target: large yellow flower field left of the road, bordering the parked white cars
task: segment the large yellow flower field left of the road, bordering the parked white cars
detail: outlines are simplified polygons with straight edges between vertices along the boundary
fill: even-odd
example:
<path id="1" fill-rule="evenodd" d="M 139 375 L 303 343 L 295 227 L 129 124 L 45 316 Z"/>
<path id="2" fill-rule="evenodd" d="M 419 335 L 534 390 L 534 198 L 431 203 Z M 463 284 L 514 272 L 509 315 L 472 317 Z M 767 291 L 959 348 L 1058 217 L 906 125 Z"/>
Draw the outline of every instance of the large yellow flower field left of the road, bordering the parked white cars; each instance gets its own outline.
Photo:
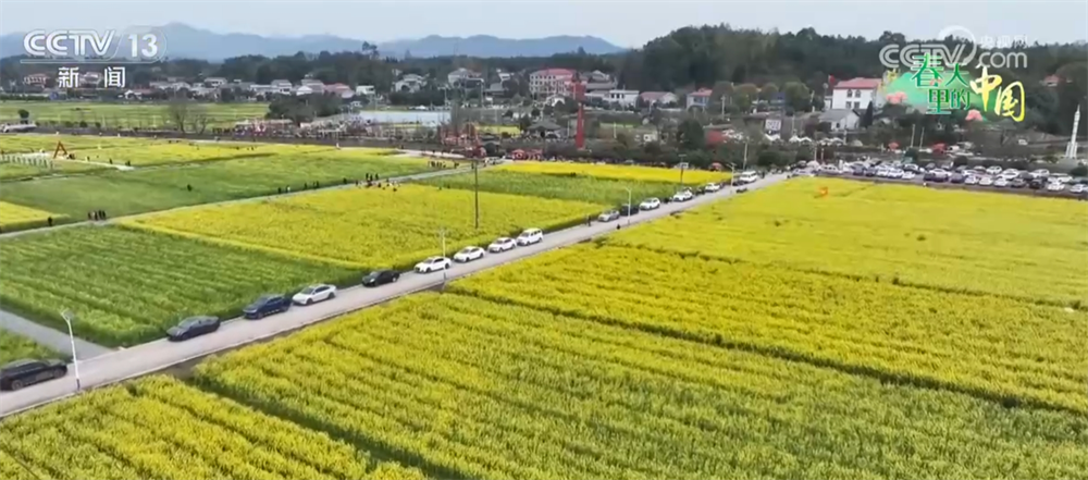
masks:
<path id="1" fill-rule="evenodd" d="M 397 190 L 353 187 L 208 206 L 125 223 L 351 268 L 404 268 L 442 254 L 442 229 L 447 254 L 453 255 L 462 246 L 486 244 L 527 227 L 579 224 L 601 210 L 581 201 L 482 193 L 475 230 L 471 192 L 401 185 Z"/>

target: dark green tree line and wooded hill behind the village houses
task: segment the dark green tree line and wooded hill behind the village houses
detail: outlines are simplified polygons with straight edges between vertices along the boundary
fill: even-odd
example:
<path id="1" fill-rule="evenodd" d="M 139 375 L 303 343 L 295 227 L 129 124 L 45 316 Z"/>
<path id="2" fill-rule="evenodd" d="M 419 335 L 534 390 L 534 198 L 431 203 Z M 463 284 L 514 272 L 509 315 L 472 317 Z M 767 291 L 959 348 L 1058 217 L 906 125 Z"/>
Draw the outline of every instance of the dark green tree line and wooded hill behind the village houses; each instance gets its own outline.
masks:
<path id="1" fill-rule="evenodd" d="M 923 40 L 954 46 L 953 38 Z M 327 83 L 374 85 L 379 91 L 390 91 L 398 75 L 415 73 L 445 79 L 458 67 L 491 75 L 486 83 L 497 83 L 494 73 L 531 72 L 542 67 L 565 67 L 580 72 L 601 71 L 614 75 L 623 88 L 641 91 L 691 91 L 712 88 L 710 109 L 746 111 L 761 100 L 777 97 L 789 110 L 803 111 L 820 107 L 828 77 L 880 76 L 885 67 L 879 61 L 880 49 L 889 42 L 903 45 L 905 37 L 885 32 L 879 38 L 820 35 L 813 28 L 795 33 L 762 32 L 732 28 L 729 25 L 684 27 L 651 40 L 640 49 L 609 56 L 592 56 L 582 51 L 547 58 L 401 58 L 383 57 L 376 48 L 363 42 L 358 51 L 296 53 L 268 58 L 245 56 L 222 63 L 202 60 L 170 60 L 152 65 L 129 67 L 129 84 L 147 84 L 165 77 L 186 79 L 221 76 L 258 84 L 273 79 L 298 83 L 311 76 Z M 1028 59 L 1026 67 L 1015 71 L 997 69 L 1004 82 L 1023 82 L 1026 91 L 1027 118 L 1024 126 L 1053 134 L 1068 134 L 1073 112 L 1078 104 L 1088 107 L 1088 47 L 1071 45 L 1013 45 Z M 16 79 L 36 71 L 55 73 L 40 65 L 23 65 L 18 58 L 0 60 L 0 81 Z M 37 70 L 35 70 L 37 69 Z M 1047 75 L 1060 75 L 1056 88 L 1046 88 L 1040 81 Z M 1066 82 L 1067 81 L 1067 82 Z M 503 83 L 508 97 L 528 96 L 526 78 Z M 396 93 L 398 104 L 441 104 L 432 85 L 422 93 Z M 472 98 L 480 91 L 468 93 Z M 781 94 L 781 95 L 778 95 Z M 721 99 L 725 99 L 722 101 Z M 812 102 L 809 101 L 812 99 Z M 813 102 L 815 104 L 813 104 Z M 1088 109 L 1086 109 L 1088 110 Z M 1081 123 L 1088 132 L 1088 122 Z"/>

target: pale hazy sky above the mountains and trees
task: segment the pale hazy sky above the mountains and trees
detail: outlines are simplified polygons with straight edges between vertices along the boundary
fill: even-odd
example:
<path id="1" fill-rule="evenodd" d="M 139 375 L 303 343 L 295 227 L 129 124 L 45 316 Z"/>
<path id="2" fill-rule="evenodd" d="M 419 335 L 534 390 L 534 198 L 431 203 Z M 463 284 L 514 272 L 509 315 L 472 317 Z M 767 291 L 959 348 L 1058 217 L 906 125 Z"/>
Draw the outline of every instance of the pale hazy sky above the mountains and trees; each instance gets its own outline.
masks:
<path id="1" fill-rule="evenodd" d="M 36 28 L 120 28 L 182 22 L 219 33 L 332 34 L 369 41 L 426 35 L 534 38 L 595 35 L 623 47 L 685 25 L 877 37 L 890 29 L 932 37 L 962 25 L 976 37 L 1028 42 L 1088 39 L 1088 0 L 606 1 L 606 0 L 0 0 L 0 34 Z"/>

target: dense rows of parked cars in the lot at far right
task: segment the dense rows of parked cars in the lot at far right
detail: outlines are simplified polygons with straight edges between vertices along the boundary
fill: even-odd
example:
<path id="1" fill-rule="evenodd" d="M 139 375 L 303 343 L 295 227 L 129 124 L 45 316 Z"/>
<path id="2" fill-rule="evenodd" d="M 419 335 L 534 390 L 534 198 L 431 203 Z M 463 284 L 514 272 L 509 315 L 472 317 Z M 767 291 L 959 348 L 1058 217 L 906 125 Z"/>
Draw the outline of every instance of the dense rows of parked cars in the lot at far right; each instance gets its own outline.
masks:
<path id="1" fill-rule="evenodd" d="M 942 169 L 932 163 L 922 167 L 914 163 L 891 162 L 882 164 L 868 164 L 865 162 L 848 163 L 843 165 L 821 165 L 817 168 L 794 171 L 795 174 L 821 174 L 821 175 L 853 175 L 865 177 L 899 179 L 906 181 L 952 183 L 977 186 L 992 186 L 996 188 L 1031 188 L 1046 189 L 1048 192 L 1068 192 L 1071 194 L 1088 194 L 1088 179 L 1074 179 L 1064 173 L 1051 173 L 1049 170 L 1039 169 L 1034 171 L 1022 171 L 1017 169 L 1002 169 L 1001 167 L 974 167 L 961 165 L 954 169 Z"/>

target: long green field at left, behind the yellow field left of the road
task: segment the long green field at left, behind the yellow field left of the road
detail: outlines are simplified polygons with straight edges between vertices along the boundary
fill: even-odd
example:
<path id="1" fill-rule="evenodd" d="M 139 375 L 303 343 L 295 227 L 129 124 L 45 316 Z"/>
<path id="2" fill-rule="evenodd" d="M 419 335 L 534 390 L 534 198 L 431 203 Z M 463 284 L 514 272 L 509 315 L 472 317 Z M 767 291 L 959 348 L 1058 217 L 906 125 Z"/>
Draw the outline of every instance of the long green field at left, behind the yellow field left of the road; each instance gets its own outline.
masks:
<path id="1" fill-rule="evenodd" d="M 292 148 L 292 147 L 287 147 Z M 314 151 L 252 159 L 138 169 L 64 179 L 2 184 L 9 202 L 86 219 L 102 209 L 111 217 L 175 207 L 273 195 L 277 187 L 301 190 L 304 183 L 338 185 L 368 173 L 391 176 L 430 170 L 425 160 L 362 151 Z M 190 192 L 187 187 L 193 186 Z"/>

